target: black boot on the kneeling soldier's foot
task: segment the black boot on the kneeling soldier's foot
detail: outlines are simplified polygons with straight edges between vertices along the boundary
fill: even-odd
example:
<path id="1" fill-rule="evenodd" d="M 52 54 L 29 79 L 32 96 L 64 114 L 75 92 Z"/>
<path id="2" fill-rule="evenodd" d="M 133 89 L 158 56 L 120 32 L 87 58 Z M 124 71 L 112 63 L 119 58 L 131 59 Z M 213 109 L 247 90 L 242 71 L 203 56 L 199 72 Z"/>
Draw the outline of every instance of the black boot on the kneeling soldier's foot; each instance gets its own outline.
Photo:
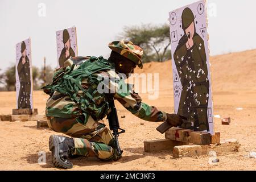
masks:
<path id="1" fill-rule="evenodd" d="M 75 147 L 72 138 L 51 135 L 49 138 L 49 150 L 52 152 L 52 162 L 55 167 L 70 169 L 73 164 L 68 160 L 71 149 Z"/>

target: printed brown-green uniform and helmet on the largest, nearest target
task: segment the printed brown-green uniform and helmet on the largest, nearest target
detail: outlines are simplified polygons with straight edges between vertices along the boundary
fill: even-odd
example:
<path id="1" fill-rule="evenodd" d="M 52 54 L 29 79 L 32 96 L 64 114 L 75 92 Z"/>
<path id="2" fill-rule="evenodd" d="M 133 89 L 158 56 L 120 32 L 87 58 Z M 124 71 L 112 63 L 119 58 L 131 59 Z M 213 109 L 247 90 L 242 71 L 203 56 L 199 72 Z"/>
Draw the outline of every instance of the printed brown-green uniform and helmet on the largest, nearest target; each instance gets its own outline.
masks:
<path id="1" fill-rule="evenodd" d="M 190 9 L 184 9 L 183 29 L 185 30 L 195 19 Z M 183 123 L 181 127 L 193 130 L 208 130 L 208 99 L 209 81 L 207 56 L 204 40 L 195 32 L 193 46 L 187 49 L 188 41 L 185 34 L 179 41 L 174 53 L 174 60 L 183 86 L 177 114 L 189 118 L 191 122 Z"/>

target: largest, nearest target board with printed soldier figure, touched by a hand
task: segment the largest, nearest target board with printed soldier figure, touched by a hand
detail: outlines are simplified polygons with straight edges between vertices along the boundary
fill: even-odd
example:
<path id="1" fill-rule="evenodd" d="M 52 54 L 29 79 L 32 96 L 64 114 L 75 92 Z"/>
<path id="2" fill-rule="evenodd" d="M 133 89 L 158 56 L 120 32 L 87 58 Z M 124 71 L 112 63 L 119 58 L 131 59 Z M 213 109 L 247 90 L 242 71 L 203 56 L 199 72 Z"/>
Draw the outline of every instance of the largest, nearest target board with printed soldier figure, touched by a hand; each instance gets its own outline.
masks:
<path id="1" fill-rule="evenodd" d="M 170 12 L 175 112 L 181 128 L 213 134 L 212 90 L 205 1 Z"/>

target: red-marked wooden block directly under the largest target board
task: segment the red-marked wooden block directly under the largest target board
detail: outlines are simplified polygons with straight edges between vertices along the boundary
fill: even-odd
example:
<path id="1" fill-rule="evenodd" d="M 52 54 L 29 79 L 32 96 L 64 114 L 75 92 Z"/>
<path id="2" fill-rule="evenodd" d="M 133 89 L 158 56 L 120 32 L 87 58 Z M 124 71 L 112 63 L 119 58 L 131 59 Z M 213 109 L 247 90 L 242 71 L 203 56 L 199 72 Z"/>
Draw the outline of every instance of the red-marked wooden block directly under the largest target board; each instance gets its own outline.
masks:
<path id="1" fill-rule="evenodd" d="M 166 139 L 176 140 L 179 142 L 189 142 L 193 144 L 210 144 L 210 134 L 200 131 L 172 128 L 166 131 Z"/>

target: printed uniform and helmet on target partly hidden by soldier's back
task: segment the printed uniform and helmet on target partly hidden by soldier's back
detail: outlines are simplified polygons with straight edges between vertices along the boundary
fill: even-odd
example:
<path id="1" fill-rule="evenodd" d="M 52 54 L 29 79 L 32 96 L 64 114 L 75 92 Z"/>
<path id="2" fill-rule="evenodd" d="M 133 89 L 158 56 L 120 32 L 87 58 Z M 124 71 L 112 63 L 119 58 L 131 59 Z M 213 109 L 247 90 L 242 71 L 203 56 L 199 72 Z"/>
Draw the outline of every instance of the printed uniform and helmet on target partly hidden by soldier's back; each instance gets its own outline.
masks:
<path id="1" fill-rule="evenodd" d="M 69 36 L 69 33 L 68 33 L 68 30 L 64 30 L 63 31 L 63 44 L 67 43 L 69 40 L 70 36 Z M 65 53 L 66 53 L 66 48 L 64 47 L 60 53 L 60 57 L 59 57 L 59 65 L 60 65 L 60 68 L 62 68 L 64 66 L 64 63 L 65 61 L 67 61 L 69 58 L 71 57 L 75 57 L 75 52 L 73 51 L 73 49 L 69 48 L 69 56 L 66 57 Z"/>

